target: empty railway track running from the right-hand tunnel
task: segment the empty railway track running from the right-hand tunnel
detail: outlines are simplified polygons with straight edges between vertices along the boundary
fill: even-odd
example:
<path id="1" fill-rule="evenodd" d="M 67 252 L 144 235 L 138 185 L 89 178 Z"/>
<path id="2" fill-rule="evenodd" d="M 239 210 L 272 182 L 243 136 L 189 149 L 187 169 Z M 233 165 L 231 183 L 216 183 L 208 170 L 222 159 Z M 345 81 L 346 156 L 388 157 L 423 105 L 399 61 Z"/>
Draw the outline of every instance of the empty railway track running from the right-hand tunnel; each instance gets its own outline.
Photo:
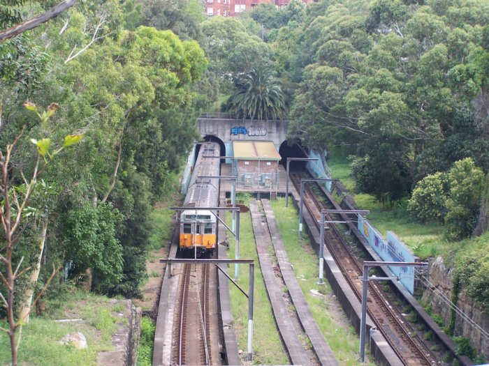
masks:
<path id="1" fill-rule="evenodd" d="M 296 188 L 300 186 L 300 177 L 297 174 L 292 174 L 291 180 Z M 314 218 L 313 221 L 319 230 L 321 209 L 325 207 L 308 185 L 305 187 L 304 199 L 305 207 Z M 326 215 L 326 220 L 337 219 Z M 329 230 L 325 231 L 326 245 L 333 255 L 337 266 L 342 270 L 346 281 L 349 282 L 351 289 L 353 289 L 358 300 L 361 301 L 363 284 L 359 277 L 362 275 L 363 263 L 344 242 L 337 227 L 333 224 L 329 228 Z M 413 336 L 414 330 L 404 320 L 404 316 L 390 305 L 390 300 L 388 300 L 384 291 L 372 282 L 368 284 L 368 291 L 367 312 L 377 329 L 384 335 L 397 356 L 402 360 L 402 363 L 407 366 L 436 365 L 436 358 L 432 356 L 431 352 L 417 336 Z"/>

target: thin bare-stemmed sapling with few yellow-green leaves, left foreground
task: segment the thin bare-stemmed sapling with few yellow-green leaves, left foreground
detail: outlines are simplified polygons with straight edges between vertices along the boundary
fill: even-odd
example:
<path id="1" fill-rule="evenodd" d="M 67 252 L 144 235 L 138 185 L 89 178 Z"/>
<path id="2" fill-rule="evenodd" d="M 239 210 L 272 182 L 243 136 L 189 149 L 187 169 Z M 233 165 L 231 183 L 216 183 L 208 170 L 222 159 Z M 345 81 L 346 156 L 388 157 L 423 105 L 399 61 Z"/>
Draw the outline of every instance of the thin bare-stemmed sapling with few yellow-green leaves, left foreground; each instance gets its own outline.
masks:
<path id="1" fill-rule="evenodd" d="M 36 106 L 32 103 L 26 103 L 25 106 L 28 109 L 37 112 Z M 41 123 L 46 123 L 54 112 L 56 112 L 57 107 L 58 105 L 53 103 L 45 112 L 42 114 L 38 113 Z M 3 268 L 0 267 L 0 277 L 3 285 L 7 289 L 6 296 L 0 292 L 0 299 L 3 302 L 3 305 L 6 307 L 8 321 L 8 329 L 0 328 L 0 330 L 7 333 L 10 339 L 10 351 L 13 366 L 17 365 L 17 351 L 20 345 L 22 326 L 26 322 L 29 312 L 32 310 L 32 307 L 39 298 L 38 296 L 36 300 L 34 300 L 34 303 L 30 305 L 29 310 L 22 312 L 22 316 L 19 319 L 15 319 L 15 284 L 22 274 L 29 270 L 29 268 L 22 268 L 21 270 L 22 261 L 24 259 L 23 257 L 17 264 L 13 263 L 13 254 L 16 245 L 22 236 L 22 220 L 28 218 L 30 213 L 33 211 L 33 208 L 29 206 L 29 199 L 31 198 L 31 195 L 33 195 L 37 178 L 44 170 L 45 165 L 47 165 L 48 162 L 54 158 L 54 155 L 60 153 L 62 150 L 64 150 L 64 148 L 76 144 L 83 138 L 83 135 L 68 135 L 64 138 L 64 142 L 61 144 L 61 147 L 54 151 L 52 150 L 51 140 L 49 138 L 43 138 L 41 140 L 32 139 L 31 142 L 36 145 L 38 151 L 34 171 L 32 172 L 29 181 L 27 178 L 25 178 L 24 174 L 21 174 L 23 183 L 20 185 L 13 185 L 11 176 L 13 162 L 11 159 L 13 157 L 15 146 L 22 138 L 22 135 L 23 131 L 20 133 L 20 135 L 17 135 L 12 144 L 6 146 L 4 152 L 0 151 L 0 195 L 2 197 L 2 201 L 0 202 L 0 221 L 2 224 L 1 229 L 3 231 L 3 240 L 1 241 L 0 247 L 0 263 L 2 264 Z M 41 252 L 42 250 L 43 248 L 41 247 Z M 6 275 L 3 275 L 3 273 L 6 273 Z M 53 273 L 46 282 L 43 290 L 48 287 L 50 281 L 56 273 L 57 270 L 53 270 Z M 16 339 L 17 331 L 19 333 L 19 337 Z"/>

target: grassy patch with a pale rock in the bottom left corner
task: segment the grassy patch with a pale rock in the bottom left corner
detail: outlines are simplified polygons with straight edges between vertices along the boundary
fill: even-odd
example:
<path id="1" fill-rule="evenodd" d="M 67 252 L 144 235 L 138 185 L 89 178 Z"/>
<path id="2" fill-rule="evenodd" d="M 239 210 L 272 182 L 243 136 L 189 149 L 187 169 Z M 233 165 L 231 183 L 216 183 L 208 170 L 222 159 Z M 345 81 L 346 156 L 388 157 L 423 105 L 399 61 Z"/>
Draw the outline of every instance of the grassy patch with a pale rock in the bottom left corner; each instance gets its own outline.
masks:
<path id="1" fill-rule="evenodd" d="M 96 365 L 97 353 L 110 351 L 112 334 L 117 330 L 119 318 L 112 312 L 120 310 L 105 296 L 95 296 L 85 291 L 72 290 L 60 303 L 48 303 L 42 316 L 31 315 L 22 328 L 19 365 Z M 83 322 L 57 323 L 53 319 L 81 318 Z M 3 326 L 1 324 L 0 326 Z M 60 344 L 64 335 L 81 332 L 87 339 L 87 349 L 75 349 Z M 10 362 L 10 342 L 0 333 L 0 365 Z"/>

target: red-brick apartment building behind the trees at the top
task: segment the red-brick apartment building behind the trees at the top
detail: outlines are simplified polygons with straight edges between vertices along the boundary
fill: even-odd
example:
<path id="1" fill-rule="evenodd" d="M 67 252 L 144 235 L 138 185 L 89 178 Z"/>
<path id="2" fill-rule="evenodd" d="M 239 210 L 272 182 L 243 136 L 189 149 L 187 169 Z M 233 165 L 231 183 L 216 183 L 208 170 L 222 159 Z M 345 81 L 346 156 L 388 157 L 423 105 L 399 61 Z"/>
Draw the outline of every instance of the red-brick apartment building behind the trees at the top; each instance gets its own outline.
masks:
<path id="1" fill-rule="evenodd" d="M 314 0 L 302 0 L 305 4 Z M 205 13 L 210 17 L 235 17 L 245 10 L 251 10 L 259 3 L 273 3 L 277 8 L 289 5 L 290 0 L 205 0 Z"/>

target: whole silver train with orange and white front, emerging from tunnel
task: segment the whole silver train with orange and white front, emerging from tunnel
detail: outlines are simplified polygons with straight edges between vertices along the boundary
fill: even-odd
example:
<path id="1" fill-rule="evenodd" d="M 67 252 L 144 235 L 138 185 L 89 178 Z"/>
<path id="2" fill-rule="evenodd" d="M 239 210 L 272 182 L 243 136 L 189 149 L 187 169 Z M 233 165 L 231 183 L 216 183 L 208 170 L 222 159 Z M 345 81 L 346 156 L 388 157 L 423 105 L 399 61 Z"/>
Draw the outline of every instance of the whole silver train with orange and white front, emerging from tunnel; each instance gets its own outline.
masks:
<path id="1" fill-rule="evenodd" d="M 180 213 L 180 251 L 187 257 L 211 257 L 217 245 L 217 218 L 211 211 L 192 210 L 219 206 L 221 148 L 215 142 L 200 146 L 189 188 Z M 188 208 L 188 209 L 187 209 Z"/>

